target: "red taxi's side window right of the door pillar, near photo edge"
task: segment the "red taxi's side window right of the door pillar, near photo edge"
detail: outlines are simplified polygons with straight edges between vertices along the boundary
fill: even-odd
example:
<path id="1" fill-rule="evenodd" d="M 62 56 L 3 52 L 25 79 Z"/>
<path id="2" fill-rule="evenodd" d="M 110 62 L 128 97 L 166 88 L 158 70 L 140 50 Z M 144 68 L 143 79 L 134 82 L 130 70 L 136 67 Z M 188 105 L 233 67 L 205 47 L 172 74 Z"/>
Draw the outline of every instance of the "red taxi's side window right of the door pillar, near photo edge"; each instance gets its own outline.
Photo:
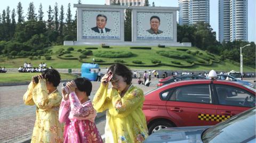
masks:
<path id="1" fill-rule="evenodd" d="M 219 104 L 231 106 L 254 107 L 255 96 L 243 89 L 229 86 L 216 85 Z"/>

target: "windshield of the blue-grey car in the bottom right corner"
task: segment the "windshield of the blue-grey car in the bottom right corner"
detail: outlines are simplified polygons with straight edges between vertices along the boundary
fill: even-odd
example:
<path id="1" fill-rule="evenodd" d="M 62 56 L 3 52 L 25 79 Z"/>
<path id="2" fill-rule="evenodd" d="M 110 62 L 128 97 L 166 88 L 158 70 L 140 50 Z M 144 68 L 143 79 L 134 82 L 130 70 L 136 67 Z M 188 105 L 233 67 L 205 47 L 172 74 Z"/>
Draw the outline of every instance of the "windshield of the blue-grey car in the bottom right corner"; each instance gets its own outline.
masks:
<path id="1" fill-rule="evenodd" d="M 249 142 L 255 138 L 255 107 L 207 129 L 203 142 Z"/>

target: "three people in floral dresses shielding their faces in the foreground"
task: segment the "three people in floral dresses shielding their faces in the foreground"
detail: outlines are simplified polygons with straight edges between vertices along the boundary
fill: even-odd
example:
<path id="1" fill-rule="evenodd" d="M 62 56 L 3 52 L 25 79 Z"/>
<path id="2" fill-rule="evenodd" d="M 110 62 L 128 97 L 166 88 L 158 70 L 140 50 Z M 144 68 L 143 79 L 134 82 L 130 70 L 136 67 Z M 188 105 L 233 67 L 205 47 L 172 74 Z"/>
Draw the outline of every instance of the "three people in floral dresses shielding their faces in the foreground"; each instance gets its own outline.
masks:
<path id="1" fill-rule="evenodd" d="M 105 142 L 143 142 L 148 137 L 142 112 L 145 97 L 131 81 L 131 70 L 115 63 L 101 78 L 101 85 L 91 100 L 89 79 L 67 82 L 60 94 L 57 70 L 46 69 L 32 77 L 23 95 L 26 105 L 37 107 L 31 142 L 103 142 L 94 120 L 97 112 L 105 111 Z"/>

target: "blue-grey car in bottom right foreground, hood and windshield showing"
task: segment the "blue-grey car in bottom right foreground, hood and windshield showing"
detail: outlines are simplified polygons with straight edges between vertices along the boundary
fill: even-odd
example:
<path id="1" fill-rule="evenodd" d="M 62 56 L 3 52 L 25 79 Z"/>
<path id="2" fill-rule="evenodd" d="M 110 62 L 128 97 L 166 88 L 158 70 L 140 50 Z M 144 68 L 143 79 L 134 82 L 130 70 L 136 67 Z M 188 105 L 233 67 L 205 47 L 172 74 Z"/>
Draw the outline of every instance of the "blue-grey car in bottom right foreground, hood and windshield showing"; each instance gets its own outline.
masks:
<path id="1" fill-rule="evenodd" d="M 145 143 L 255 142 L 255 107 L 209 126 L 166 128 L 151 134 Z"/>

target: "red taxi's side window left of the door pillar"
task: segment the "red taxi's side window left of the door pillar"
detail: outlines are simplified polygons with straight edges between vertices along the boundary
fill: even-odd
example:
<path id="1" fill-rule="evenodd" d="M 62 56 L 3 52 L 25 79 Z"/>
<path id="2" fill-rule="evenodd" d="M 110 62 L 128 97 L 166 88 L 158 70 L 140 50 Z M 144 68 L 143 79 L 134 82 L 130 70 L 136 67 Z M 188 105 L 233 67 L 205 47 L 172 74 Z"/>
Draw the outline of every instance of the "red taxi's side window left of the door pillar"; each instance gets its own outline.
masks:
<path id="1" fill-rule="evenodd" d="M 171 99 L 181 102 L 212 103 L 209 85 L 178 87 Z"/>

